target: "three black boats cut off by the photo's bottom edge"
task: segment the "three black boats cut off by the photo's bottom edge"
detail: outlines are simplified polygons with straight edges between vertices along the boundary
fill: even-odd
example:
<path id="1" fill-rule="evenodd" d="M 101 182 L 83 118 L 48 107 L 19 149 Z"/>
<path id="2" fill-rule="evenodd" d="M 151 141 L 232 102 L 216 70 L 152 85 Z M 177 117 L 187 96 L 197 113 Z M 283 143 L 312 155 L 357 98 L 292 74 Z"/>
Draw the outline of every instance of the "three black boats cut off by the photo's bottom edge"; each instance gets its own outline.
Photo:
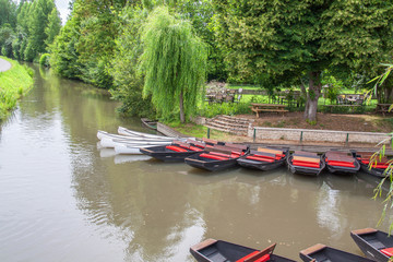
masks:
<path id="1" fill-rule="evenodd" d="M 393 237 L 384 231 L 365 228 L 353 230 L 350 236 L 367 258 L 321 243 L 300 251 L 299 257 L 305 262 L 388 262 L 393 257 Z M 272 245 L 264 250 L 258 250 L 223 240 L 206 239 L 192 246 L 190 252 L 199 262 L 295 261 L 274 254 L 275 246 Z"/>

